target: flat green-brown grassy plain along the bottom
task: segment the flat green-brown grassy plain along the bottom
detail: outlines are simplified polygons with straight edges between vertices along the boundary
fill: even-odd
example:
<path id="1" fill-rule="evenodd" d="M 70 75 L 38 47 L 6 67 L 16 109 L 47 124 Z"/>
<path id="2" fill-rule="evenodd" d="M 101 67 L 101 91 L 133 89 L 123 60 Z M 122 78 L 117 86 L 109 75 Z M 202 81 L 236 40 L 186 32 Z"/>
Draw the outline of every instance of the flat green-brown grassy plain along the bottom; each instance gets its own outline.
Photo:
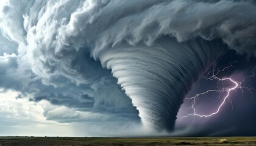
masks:
<path id="1" fill-rule="evenodd" d="M 0 137 L 0 145 L 165 146 L 165 145 L 256 145 L 256 137 Z"/>

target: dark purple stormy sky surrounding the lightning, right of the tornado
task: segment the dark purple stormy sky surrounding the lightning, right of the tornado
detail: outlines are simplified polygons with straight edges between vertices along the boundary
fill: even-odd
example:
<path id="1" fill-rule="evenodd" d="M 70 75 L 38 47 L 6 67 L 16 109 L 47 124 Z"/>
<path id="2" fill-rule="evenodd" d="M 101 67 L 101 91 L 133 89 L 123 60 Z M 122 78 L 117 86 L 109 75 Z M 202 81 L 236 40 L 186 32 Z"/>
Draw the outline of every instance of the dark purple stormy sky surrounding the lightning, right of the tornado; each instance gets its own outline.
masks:
<path id="1" fill-rule="evenodd" d="M 225 56 L 224 56 L 225 57 Z M 218 114 L 212 117 L 188 117 L 184 119 L 178 118 L 176 128 L 179 131 L 183 131 L 180 135 L 184 136 L 254 136 L 255 135 L 255 66 L 256 62 L 247 60 L 238 54 L 234 54 L 232 58 L 222 58 L 215 66 L 215 71 L 222 70 L 225 66 L 232 62 L 230 68 L 218 74 L 219 78 L 230 77 L 235 82 L 242 82 L 241 88 L 235 89 L 230 92 L 229 99 L 224 106 L 219 110 Z M 228 61 L 227 61 L 228 60 Z M 254 58 L 251 58 L 254 60 Z M 233 63 L 233 61 L 236 61 Z M 241 65 L 240 63 L 243 63 Z M 208 72 L 212 72 L 212 68 Z M 212 74 L 210 74 L 212 75 Z M 210 76 L 208 75 L 208 76 Z M 254 75 L 254 76 L 252 76 Z M 202 76 L 204 77 L 204 75 Z M 244 78 L 247 77 L 247 78 Z M 222 89 L 227 88 L 229 85 L 227 82 L 219 82 L 218 80 L 205 80 L 201 78 L 199 82 L 194 85 L 193 89 L 187 94 L 187 98 L 193 97 L 195 94 L 205 92 L 209 89 Z M 201 96 L 194 107 L 196 107 L 196 113 L 210 114 L 218 109 L 222 98 L 227 94 L 224 92 L 221 97 L 218 97 L 219 93 L 206 94 Z M 217 98 L 218 97 L 218 98 Z M 181 108 L 182 116 L 187 115 L 187 108 L 191 108 L 191 100 L 185 100 Z M 191 109 L 192 110 L 192 109 Z M 190 110 L 189 110 L 190 111 Z M 190 112 L 188 112 L 190 113 Z M 180 114 L 179 114 L 179 117 Z M 186 127 L 186 128 L 185 128 Z M 183 130 L 180 130 L 183 129 Z"/>

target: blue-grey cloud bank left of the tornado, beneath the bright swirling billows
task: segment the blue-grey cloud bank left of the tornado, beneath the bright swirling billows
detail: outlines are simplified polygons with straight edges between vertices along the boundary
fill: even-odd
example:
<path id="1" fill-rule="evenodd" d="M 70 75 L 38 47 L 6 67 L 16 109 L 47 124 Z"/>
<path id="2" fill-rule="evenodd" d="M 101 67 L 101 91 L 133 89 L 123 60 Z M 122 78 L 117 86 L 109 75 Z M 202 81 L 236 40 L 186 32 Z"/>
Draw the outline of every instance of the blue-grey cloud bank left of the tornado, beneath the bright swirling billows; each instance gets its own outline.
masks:
<path id="1" fill-rule="evenodd" d="M 20 92 L 16 98 L 29 97 L 30 101 L 34 102 L 48 100 L 54 105 L 64 105 L 69 108 L 76 108 L 79 111 L 101 113 L 102 117 L 105 115 L 108 117 L 108 120 L 125 119 L 126 122 L 129 120 L 139 120 L 138 113 L 132 106 L 130 99 L 116 85 L 116 78 L 113 78 L 107 69 L 98 68 L 94 75 L 101 75 L 90 78 L 90 83 L 77 85 L 72 80 L 59 75 L 52 76 L 49 80 L 43 81 L 29 69 L 19 68 L 22 65 L 18 63 L 19 59 L 18 55 L 14 53 L 7 54 L 6 52 L 0 57 L 0 87 L 4 89 L 2 92 L 12 89 Z M 93 64 L 99 63 L 94 61 Z M 51 83 L 50 86 L 46 85 L 48 82 Z M 118 113 L 120 111 L 123 114 Z M 112 114 L 115 115 L 115 118 L 113 118 Z M 93 115 L 95 115 L 94 119 Z M 60 118 L 57 117 L 60 115 L 53 117 L 52 114 L 45 114 L 44 116 L 49 120 L 57 120 L 59 122 L 82 122 L 89 119 L 86 117 L 75 119 L 68 116 Z M 93 120 L 106 120 L 106 118 L 91 114 L 90 121 Z M 3 120 L 1 121 L 4 122 Z"/>

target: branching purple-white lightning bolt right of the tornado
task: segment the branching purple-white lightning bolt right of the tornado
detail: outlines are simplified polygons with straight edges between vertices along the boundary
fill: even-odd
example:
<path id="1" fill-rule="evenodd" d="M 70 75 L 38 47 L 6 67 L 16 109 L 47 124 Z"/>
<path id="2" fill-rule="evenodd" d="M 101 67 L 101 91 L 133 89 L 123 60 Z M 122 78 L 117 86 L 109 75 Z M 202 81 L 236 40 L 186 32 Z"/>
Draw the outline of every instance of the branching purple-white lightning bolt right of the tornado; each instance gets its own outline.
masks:
<path id="1" fill-rule="evenodd" d="M 191 108 L 193 108 L 193 113 L 190 113 L 187 116 L 182 116 L 182 119 L 184 117 L 188 117 L 188 116 L 210 117 L 210 116 L 213 116 L 214 114 L 217 114 L 220 111 L 221 107 L 224 105 L 224 103 L 227 102 L 227 99 L 229 99 L 230 92 L 234 91 L 235 89 L 241 89 L 243 94 L 244 94 L 243 89 L 247 89 L 249 92 L 251 92 L 251 96 L 252 96 L 252 90 L 254 90 L 254 88 L 244 87 L 244 86 L 241 86 L 241 84 L 246 80 L 246 78 L 255 77 L 256 66 L 254 66 L 254 69 L 252 69 L 252 74 L 244 77 L 241 82 L 236 82 L 232 78 L 219 78 L 219 77 L 216 77 L 216 75 L 218 75 L 219 72 L 223 72 L 226 69 L 231 68 L 232 64 L 233 63 L 231 63 L 229 66 L 226 66 L 225 68 L 223 68 L 221 70 L 218 70 L 218 71 L 215 71 L 215 68 L 216 68 L 216 65 L 215 65 L 215 66 L 213 66 L 213 71 L 212 72 L 208 72 L 208 74 L 205 75 L 205 77 L 203 77 L 203 78 L 205 78 L 206 80 L 218 80 L 218 82 L 228 81 L 228 82 L 232 83 L 233 86 L 231 86 L 231 87 L 229 86 L 229 87 L 223 88 L 223 89 L 208 90 L 206 92 L 202 92 L 202 93 L 196 94 L 196 96 L 193 96 L 193 97 L 190 97 L 190 98 L 186 98 L 186 100 L 192 100 Z M 209 77 L 209 75 L 211 73 L 212 73 L 212 75 Z M 199 99 L 199 97 L 201 97 L 204 94 L 207 94 L 209 92 L 218 92 L 219 93 L 218 98 L 222 95 L 223 92 L 227 92 L 227 94 L 224 97 L 224 99 L 222 100 L 221 104 L 218 106 L 218 109 L 216 109 L 216 111 L 214 113 L 210 113 L 210 114 L 197 114 L 196 113 L 196 108 L 194 107 L 196 105 L 196 100 Z M 229 102 L 232 103 L 232 100 L 229 99 Z"/>

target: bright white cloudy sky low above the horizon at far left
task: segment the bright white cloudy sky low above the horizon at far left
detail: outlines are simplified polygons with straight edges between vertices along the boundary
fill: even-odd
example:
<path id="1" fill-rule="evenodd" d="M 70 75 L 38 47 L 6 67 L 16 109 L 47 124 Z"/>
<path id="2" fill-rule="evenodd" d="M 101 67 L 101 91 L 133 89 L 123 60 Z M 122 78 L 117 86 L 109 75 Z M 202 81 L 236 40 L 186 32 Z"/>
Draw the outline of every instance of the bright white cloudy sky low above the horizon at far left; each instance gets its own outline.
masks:
<path id="1" fill-rule="evenodd" d="M 46 100 L 38 103 L 27 99 L 16 99 L 19 92 L 0 92 L 0 135 L 27 135 L 27 136 L 69 136 L 73 126 L 69 123 L 59 123 L 47 120 L 43 116 L 45 109 L 57 109 Z M 65 134 L 66 133 L 66 134 Z"/>

